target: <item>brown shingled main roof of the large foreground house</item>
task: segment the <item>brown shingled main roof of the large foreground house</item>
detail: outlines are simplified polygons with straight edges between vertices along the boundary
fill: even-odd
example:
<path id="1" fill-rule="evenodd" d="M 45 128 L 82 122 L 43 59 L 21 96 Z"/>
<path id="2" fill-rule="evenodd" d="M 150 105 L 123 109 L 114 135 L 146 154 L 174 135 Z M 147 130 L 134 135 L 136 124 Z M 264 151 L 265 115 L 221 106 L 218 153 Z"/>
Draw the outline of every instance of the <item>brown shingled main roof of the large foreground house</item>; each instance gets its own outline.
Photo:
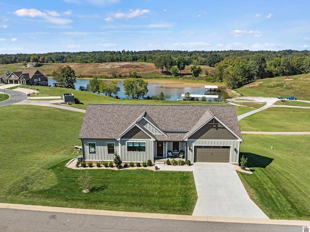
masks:
<path id="1" fill-rule="evenodd" d="M 182 141 L 186 134 L 197 131 L 214 116 L 242 139 L 233 105 L 117 104 L 89 104 L 79 138 L 117 139 L 136 125 L 141 116 L 147 117 L 156 128 L 167 134 L 167 136 L 152 134 L 157 140 Z"/>

